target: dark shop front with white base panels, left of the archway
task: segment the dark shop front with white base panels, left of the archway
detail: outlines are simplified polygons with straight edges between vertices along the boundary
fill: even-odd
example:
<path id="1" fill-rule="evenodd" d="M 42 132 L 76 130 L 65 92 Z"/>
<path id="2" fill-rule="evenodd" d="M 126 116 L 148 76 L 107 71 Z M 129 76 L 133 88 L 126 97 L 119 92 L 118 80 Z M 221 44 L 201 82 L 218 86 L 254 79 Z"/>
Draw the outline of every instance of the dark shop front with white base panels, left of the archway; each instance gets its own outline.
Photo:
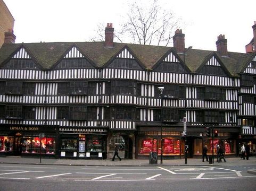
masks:
<path id="1" fill-rule="evenodd" d="M 106 129 L 60 128 L 60 158 L 106 159 Z"/>

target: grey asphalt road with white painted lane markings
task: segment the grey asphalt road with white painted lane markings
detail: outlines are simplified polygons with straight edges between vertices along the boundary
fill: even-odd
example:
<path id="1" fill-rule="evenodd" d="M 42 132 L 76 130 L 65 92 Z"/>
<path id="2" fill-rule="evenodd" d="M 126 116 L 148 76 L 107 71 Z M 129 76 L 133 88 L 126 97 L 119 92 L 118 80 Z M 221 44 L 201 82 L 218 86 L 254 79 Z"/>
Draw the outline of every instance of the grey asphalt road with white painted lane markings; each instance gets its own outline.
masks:
<path id="1" fill-rule="evenodd" d="M 250 166 L 92 167 L 1 164 L 4 190 L 255 190 Z"/>

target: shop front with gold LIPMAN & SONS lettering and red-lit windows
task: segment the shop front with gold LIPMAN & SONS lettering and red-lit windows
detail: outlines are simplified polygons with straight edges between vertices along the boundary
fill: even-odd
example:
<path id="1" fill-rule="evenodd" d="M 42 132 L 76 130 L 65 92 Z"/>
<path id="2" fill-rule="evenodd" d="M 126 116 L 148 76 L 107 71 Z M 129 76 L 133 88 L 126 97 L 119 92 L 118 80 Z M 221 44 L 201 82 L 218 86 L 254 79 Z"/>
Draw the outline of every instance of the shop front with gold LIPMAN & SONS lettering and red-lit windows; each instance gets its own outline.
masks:
<path id="1" fill-rule="evenodd" d="M 0 125 L 0 154 L 55 157 L 57 126 Z"/>

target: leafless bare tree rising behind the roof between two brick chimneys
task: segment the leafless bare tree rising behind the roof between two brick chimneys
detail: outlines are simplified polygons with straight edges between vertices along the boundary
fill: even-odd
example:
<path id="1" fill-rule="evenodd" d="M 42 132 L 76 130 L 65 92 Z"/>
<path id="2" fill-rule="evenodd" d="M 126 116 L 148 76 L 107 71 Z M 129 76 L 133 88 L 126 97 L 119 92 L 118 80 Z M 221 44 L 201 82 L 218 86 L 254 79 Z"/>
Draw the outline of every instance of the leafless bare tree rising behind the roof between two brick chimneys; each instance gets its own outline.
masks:
<path id="1" fill-rule="evenodd" d="M 117 41 L 158 46 L 170 44 L 181 19 L 176 19 L 174 13 L 164 9 L 158 0 L 147 1 L 147 5 L 141 1 L 129 4 L 127 21 L 123 22 L 121 30 L 115 30 L 114 33 Z M 104 28 L 98 26 L 97 32 L 101 40 L 104 40 Z"/>

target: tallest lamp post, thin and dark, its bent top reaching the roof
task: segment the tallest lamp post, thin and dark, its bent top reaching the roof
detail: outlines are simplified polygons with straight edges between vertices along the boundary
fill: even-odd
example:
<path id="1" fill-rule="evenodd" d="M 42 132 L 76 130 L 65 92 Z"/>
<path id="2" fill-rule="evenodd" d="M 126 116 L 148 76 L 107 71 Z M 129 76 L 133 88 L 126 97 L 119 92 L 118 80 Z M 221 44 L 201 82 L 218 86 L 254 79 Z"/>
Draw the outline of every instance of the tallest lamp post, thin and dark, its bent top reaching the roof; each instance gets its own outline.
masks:
<path id="1" fill-rule="evenodd" d="M 188 47 L 187 50 L 190 50 L 192 48 L 192 46 Z M 185 164 L 187 164 L 187 127 L 186 127 L 186 123 L 187 123 L 187 90 L 186 90 L 186 63 L 185 63 L 185 53 L 187 50 L 184 50 L 183 52 L 183 63 L 184 63 L 184 89 L 185 89 L 185 116 L 184 116 L 184 134 L 185 134 L 185 148 L 184 148 L 184 158 L 185 158 Z M 185 128 L 186 127 L 186 128 Z"/>

